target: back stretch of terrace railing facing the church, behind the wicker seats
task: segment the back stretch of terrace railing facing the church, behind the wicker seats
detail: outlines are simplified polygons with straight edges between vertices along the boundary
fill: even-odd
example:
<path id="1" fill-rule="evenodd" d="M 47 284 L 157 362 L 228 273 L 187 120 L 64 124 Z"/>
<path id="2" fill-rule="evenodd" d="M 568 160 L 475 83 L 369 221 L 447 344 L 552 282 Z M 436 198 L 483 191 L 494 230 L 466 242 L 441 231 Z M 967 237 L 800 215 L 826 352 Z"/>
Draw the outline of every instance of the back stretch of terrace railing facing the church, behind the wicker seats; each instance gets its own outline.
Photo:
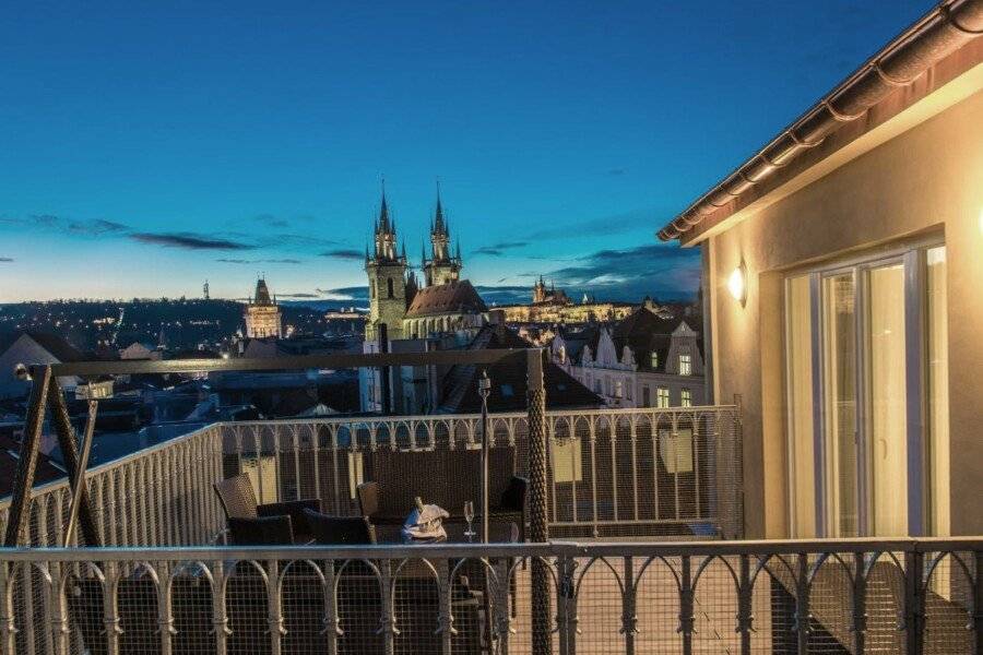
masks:
<path id="1" fill-rule="evenodd" d="M 549 412 L 547 428 L 552 534 L 742 534 L 737 407 Z M 250 472 L 264 500 L 318 497 L 327 511 L 350 514 L 356 511 L 355 484 L 372 479 L 374 467 L 392 471 L 400 458 L 427 466 L 438 455 L 477 449 L 482 429 L 477 415 L 438 415 L 247 421 L 224 424 L 222 433 L 226 474 Z M 489 433 L 496 465 L 525 474 L 526 415 L 493 414 Z"/>

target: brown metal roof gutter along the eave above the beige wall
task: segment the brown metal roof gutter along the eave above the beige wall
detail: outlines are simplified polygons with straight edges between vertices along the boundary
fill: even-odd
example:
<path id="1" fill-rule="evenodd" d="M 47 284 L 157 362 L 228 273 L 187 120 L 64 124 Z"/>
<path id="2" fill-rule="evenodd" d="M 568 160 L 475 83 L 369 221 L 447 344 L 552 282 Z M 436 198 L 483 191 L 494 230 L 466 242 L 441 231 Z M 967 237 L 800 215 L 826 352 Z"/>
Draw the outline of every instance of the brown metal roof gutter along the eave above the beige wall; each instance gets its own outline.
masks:
<path id="1" fill-rule="evenodd" d="M 707 216 L 771 177 L 802 153 L 816 147 L 899 87 L 966 44 L 983 36 L 983 0 L 945 0 L 905 29 L 850 78 L 734 172 L 659 230 L 663 241 L 683 237 Z"/>

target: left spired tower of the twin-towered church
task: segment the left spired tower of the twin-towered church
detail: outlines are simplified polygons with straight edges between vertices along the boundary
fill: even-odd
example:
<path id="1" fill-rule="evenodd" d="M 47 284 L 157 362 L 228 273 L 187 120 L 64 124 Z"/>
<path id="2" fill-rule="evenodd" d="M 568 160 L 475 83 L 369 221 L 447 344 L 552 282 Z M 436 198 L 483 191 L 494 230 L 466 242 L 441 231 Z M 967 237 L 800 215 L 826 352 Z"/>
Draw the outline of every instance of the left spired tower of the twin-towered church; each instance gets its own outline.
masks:
<path id="1" fill-rule="evenodd" d="M 375 251 L 365 253 L 365 272 L 369 278 L 369 320 L 366 341 L 375 341 L 379 325 L 386 324 L 390 340 L 403 338 L 406 314 L 406 249 L 396 252 L 395 222 L 389 216 L 386 189 L 375 226 Z"/>

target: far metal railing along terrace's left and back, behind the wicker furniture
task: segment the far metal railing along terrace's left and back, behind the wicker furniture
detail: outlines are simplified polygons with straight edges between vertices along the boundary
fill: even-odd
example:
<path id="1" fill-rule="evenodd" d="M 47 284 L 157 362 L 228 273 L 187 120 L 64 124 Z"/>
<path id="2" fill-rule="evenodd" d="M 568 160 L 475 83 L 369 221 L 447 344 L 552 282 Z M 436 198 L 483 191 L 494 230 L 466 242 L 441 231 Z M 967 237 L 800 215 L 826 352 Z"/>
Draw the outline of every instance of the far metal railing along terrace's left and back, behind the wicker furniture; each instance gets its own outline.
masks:
<path id="1" fill-rule="evenodd" d="M 739 536 L 736 407 L 556 412 L 546 421 L 553 536 Z M 217 424 L 93 467 L 86 483 L 103 545 L 209 545 L 224 527 L 212 484 L 240 472 L 260 502 L 320 498 L 325 511 L 354 515 L 355 485 L 376 479 L 398 511 L 414 496 L 460 509 L 479 493 L 481 433 L 479 415 Z M 526 415 L 490 415 L 489 436 L 493 483 L 524 475 Z M 62 545 L 70 496 L 67 480 L 35 489 L 26 544 Z"/>

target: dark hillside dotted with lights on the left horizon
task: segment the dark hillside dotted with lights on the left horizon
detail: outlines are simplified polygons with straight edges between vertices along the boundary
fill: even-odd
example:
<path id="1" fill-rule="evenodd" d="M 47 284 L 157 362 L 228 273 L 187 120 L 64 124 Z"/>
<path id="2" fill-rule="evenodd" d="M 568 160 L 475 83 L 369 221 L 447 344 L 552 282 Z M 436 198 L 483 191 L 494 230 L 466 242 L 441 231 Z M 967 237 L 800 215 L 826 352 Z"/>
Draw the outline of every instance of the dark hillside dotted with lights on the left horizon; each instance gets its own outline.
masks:
<path id="1" fill-rule="evenodd" d="M 322 311 L 283 305 L 284 325 L 301 332 L 322 333 L 328 324 Z M 242 303 L 233 300 L 137 299 L 49 300 L 0 305 L 0 343 L 21 330 L 39 330 L 64 336 L 80 350 L 122 348 L 133 342 L 173 349 L 205 343 L 220 345 L 242 325 Z"/>

